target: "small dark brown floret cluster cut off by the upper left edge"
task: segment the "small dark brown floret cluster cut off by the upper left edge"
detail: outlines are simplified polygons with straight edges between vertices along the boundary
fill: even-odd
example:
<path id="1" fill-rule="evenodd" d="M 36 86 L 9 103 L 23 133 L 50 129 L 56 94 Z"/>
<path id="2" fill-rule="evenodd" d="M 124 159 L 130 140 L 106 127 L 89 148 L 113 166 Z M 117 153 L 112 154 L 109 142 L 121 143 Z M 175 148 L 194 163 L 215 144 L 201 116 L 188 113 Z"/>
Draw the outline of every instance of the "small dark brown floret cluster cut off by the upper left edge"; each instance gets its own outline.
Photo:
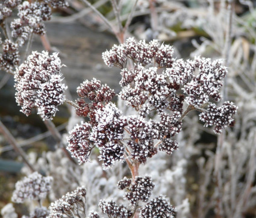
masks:
<path id="1" fill-rule="evenodd" d="M 13 68 L 19 64 L 19 51 L 16 43 L 5 40 L 2 43 L 2 54 L 0 56 L 0 68 L 12 72 Z"/>

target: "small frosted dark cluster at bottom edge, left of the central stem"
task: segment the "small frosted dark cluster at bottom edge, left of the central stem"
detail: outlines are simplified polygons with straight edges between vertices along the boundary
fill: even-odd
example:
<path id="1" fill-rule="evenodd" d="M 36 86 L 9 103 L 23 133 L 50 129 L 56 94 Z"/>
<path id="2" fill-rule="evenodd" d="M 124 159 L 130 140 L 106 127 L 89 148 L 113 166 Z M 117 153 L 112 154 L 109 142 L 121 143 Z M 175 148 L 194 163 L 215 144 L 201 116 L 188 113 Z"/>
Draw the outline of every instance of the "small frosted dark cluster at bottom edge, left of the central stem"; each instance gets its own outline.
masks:
<path id="1" fill-rule="evenodd" d="M 132 216 L 131 210 L 128 210 L 125 206 L 118 206 L 114 201 L 104 201 L 99 202 L 99 207 L 102 210 L 102 213 L 107 214 L 109 217 L 115 218 L 129 218 Z"/>

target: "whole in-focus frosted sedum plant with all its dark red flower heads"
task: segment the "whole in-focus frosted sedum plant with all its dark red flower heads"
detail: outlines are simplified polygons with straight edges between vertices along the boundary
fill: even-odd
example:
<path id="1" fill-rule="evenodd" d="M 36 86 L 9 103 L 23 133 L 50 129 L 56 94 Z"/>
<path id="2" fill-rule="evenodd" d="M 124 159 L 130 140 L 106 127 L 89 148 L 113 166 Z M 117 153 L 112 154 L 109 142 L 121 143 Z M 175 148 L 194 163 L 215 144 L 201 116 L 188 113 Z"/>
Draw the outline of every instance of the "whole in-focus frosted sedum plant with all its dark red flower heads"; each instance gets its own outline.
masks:
<path id="1" fill-rule="evenodd" d="M 130 38 L 102 57 L 107 66 L 120 68 L 121 92 L 116 94 L 94 78 L 77 88 L 76 103 L 63 95 L 67 88 L 61 83 L 57 54 L 33 52 L 16 71 L 16 99 L 23 113 L 28 115 L 37 108 L 43 119 L 52 119 L 58 105 L 67 101 L 78 116 L 85 118 L 67 137 L 67 150 L 79 164 L 89 161 L 97 148 L 102 169 L 108 170 L 120 161 L 131 171 L 131 178 L 117 184 L 125 191 L 123 198 L 128 206 L 102 199 L 101 214 L 88 213 L 86 190 L 81 187 L 53 202 L 48 217 L 173 217 L 176 210 L 163 195 L 151 198 L 155 184 L 151 176 L 139 175 L 139 166 L 159 151 L 170 155 L 178 149 L 175 135 L 192 110 L 199 112 L 205 126 L 214 125 L 217 134 L 234 124 L 236 105 L 228 101 L 214 104 L 221 99 L 219 92 L 227 69 L 221 60 L 210 58 L 176 60 L 172 46 L 157 40 L 146 43 Z M 24 88 L 25 93 L 20 91 Z M 133 114 L 124 115 L 117 108 L 113 102 L 116 95 L 133 108 Z"/>

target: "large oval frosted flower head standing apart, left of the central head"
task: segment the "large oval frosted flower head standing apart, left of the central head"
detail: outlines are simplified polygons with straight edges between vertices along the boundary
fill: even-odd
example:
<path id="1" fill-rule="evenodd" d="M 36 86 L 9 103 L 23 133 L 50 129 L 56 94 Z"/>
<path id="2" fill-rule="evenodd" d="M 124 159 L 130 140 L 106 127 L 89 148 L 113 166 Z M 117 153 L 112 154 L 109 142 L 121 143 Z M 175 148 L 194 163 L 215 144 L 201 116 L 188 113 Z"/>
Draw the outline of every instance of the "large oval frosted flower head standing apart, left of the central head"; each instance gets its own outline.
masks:
<path id="1" fill-rule="evenodd" d="M 58 54 L 33 52 L 19 66 L 14 75 L 16 101 L 27 116 L 35 108 L 44 119 L 52 119 L 58 106 L 64 102 L 64 90 L 60 73 L 61 61 Z"/>

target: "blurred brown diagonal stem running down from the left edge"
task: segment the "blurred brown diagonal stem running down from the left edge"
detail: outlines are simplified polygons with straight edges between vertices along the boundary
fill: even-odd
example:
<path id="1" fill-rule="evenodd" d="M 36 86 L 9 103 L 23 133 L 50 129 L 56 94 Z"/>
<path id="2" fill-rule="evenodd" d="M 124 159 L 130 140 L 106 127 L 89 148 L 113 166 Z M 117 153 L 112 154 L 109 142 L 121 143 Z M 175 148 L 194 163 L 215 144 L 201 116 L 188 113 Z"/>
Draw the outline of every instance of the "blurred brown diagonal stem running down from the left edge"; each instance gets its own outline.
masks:
<path id="1" fill-rule="evenodd" d="M 30 168 L 32 172 L 36 171 L 34 167 L 28 162 L 27 154 L 19 147 L 18 143 L 14 139 L 11 132 L 8 131 L 4 123 L 1 122 L 1 120 L 0 120 L 0 132 L 2 132 L 5 139 L 7 139 L 8 142 L 11 144 L 11 146 L 13 146 L 13 149 L 17 152 L 17 154 L 19 154 L 20 157 L 22 157 L 22 160 L 25 162 L 25 164 L 27 164 L 28 168 Z"/>

